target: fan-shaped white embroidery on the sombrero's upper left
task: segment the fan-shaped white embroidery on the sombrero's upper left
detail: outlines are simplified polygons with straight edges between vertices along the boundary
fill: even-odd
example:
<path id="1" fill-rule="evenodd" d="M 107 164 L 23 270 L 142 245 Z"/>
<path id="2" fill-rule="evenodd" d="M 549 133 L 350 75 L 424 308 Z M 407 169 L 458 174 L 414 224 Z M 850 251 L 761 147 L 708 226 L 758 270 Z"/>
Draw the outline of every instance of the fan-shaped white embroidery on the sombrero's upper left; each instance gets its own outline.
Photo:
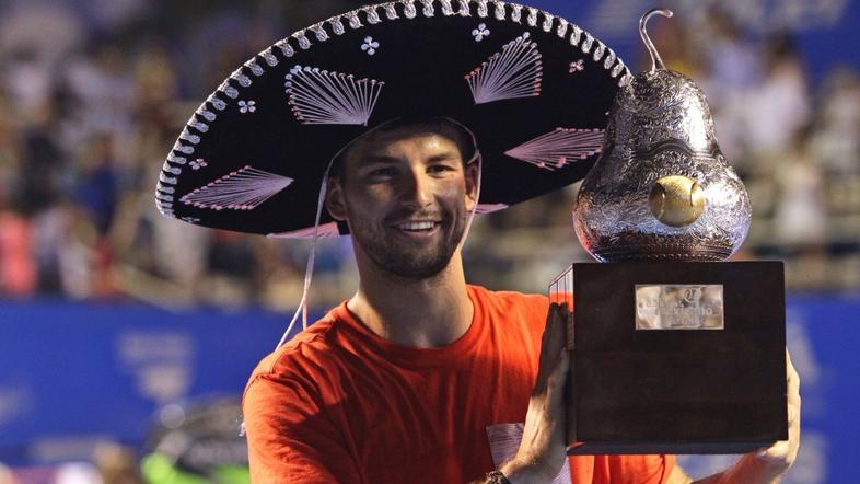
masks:
<path id="1" fill-rule="evenodd" d="M 385 83 L 295 66 L 284 85 L 293 115 L 302 124 L 367 126 Z"/>

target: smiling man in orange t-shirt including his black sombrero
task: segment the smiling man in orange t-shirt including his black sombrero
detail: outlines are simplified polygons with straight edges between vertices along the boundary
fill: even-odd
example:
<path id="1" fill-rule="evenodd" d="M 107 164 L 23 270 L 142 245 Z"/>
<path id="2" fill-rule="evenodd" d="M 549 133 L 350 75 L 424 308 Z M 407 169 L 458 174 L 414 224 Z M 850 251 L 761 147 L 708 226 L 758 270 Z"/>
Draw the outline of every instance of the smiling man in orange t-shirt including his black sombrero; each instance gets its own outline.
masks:
<path id="1" fill-rule="evenodd" d="M 254 371 L 254 482 L 684 481 L 671 456 L 567 459 L 568 309 L 463 274 L 472 214 L 584 176 L 626 76 L 548 13 L 403 0 L 297 32 L 200 106 L 165 162 L 160 210 L 350 233 L 360 274 L 351 299 Z M 787 446 L 742 459 L 736 482 L 783 471 Z"/>

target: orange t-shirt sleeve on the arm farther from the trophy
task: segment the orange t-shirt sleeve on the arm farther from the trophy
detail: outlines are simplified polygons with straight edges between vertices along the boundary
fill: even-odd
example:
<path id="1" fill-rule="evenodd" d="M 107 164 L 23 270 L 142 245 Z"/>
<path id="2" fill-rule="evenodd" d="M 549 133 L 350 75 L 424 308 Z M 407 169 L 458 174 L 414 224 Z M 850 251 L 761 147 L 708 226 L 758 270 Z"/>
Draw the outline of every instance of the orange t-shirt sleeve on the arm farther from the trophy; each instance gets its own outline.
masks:
<path id="1" fill-rule="evenodd" d="M 257 374 L 242 407 L 252 483 L 358 482 L 340 434 L 300 382 Z"/>

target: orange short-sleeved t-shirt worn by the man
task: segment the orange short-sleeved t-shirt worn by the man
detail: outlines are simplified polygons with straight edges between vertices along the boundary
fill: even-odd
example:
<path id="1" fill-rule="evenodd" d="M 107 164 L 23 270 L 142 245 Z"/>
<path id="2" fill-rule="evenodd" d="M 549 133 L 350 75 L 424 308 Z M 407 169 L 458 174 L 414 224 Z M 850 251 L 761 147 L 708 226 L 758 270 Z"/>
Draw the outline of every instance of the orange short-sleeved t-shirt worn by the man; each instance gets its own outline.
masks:
<path id="1" fill-rule="evenodd" d="M 449 346 L 388 342 L 344 303 L 260 361 L 243 401 L 252 481 L 462 483 L 500 464 L 489 429 L 525 420 L 548 301 L 468 295 L 472 325 Z M 576 484 L 663 483 L 674 458 L 569 464 Z"/>

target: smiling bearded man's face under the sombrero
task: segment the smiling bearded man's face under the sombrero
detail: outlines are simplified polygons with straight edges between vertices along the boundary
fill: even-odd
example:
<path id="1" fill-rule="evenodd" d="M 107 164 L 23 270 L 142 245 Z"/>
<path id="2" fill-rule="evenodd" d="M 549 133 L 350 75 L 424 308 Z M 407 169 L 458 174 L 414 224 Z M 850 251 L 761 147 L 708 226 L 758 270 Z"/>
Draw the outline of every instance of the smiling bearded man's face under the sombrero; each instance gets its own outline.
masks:
<path id="1" fill-rule="evenodd" d="M 420 280 L 448 266 L 475 203 L 477 169 L 464 170 L 456 142 L 395 130 L 347 152 L 329 204 L 352 240 L 383 272 Z M 341 205 L 338 205 L 341 204 Z"/>

